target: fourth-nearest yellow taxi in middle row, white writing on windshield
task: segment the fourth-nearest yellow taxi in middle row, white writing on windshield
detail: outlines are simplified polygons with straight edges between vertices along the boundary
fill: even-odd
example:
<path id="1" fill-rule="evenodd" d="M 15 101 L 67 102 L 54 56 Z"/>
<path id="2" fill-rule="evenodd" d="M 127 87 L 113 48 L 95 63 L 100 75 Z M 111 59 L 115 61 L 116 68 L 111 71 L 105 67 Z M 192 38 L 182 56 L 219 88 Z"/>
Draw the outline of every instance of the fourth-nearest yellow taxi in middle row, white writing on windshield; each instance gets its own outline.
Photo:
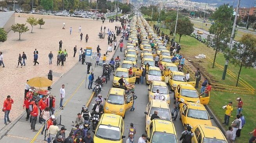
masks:
<path id="1" fill-rule="evenodd" d="M 164 77 L 162 76 L 160 68 L 156 66 L 150 66 L 146 72 L 146 83 L 150 84 L 151 81 L 162 81 Z"/>

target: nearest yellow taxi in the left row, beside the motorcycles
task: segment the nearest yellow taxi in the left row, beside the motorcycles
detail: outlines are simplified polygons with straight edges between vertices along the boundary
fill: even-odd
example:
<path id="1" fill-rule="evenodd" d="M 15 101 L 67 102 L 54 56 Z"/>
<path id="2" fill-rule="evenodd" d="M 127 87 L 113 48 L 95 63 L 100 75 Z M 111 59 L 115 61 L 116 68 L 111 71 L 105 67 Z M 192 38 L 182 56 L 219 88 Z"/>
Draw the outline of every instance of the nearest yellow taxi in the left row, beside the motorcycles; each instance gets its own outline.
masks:
<path id="1" fill-rule="evenodd" d="M 124 120 L 121 116 L 104 113 L 94 133 L 94 143 L 123 143 Z"/>

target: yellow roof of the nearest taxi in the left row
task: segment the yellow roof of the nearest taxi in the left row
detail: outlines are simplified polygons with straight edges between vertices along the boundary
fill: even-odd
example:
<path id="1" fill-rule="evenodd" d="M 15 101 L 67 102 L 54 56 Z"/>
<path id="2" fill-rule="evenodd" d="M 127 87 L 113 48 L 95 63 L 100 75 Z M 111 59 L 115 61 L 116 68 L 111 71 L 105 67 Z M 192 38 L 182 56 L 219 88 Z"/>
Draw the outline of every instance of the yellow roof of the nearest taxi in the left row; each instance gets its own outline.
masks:
<path id="1" fill-rule="evenodd" d="M 102 117 L 101 117 L 101 123 L 100 124 L 119 127 L 119 123 L 120 123 L 120 120 L 122 118 L 121 116 L 115 115 L 115 114 L 108 114 L 108 113 L 104 113 L 101 116 Z"/>

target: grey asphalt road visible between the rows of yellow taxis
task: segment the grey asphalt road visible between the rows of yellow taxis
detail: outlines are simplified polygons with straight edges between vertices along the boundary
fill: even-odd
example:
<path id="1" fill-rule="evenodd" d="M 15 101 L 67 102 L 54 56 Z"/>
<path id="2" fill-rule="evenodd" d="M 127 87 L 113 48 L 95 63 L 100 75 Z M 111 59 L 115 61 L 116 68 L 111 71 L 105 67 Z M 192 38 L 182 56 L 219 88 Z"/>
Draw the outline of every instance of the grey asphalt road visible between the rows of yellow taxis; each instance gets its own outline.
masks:
<path id="1" fill-rule="evenodd" d="M 125 47 L 125 46 L 124 46 Z M 137 63 L 141 63 L 141 58 L 140 58 L 140 52 L 139 51 L 139 55 L 138 55 L 138 61 Z M 123 52 L 120 52 L 119 48 L 117 49 L 114 58 L 117 57 L 117 55 L 119 55 L 119 57 L 121 58 L 121 62 L 124 59 L 124 49 Z M 110 88 L 112 88 L 112 82 L 113 82 L 113 72 L 111 73 L 111 77 L 110 77 L 110 81 L 108 81 L 108 84 L 104 84 L 103 89 L 101 91 L 101 94 L 103 95 L 103 98 L 105 98 L 108 94 L 108 91 Z M 148 95 L 147 95 L 147 89 L 148 89 L 148 85 L 146 85 L 146 83 L 144 82 L 144 84 L 135 84 L 135 94 L 137 95 L 137 99 L 135 100 L 135 110 L 134 111 L 126 111 L 125 113 L 125 130 L 124 130 L 124 135 L 126 136 L 126 138 L 123 139 L 123 143 L 125 143 L 127 137 L 128 137 L 128 130 L 130 128 L 130 123 L 134 124 L 134 127 L 137 128 L 136 134 L 135 134 L 135 143 L 137 143 L 139 137 L 141 137 L 141 135 L 143 133 L 146 133 L 145 131 L 145 125 L 146 125 L 146 120 L 145 120 L 145 114 L 144 112 L 146 111 L 146 105 L 148 104 Z M 173 97 L 173 92 L 170 94 L 170 97 Z M 89 110 L 92 109 L 93 105 L 95 104 L 95 98 L 92 100 L 90 106 L 89 106 Z M 105 102 L 105 100 L 104 100 Z M 171 104 L 169 106 L 170 110 L 173 109 L 173 98 L 171 98 Z M 175 129 L 176 132 L 178 134 L 178 139 L 181 137 L 181 132 L 183 131 L 183 125 L 181 120 L 179 120 L 177 118 L 176 121 L 173 121 L 174 125 L 175 125 Z M 212 120 L 212 123 L 214 126 L 216 126 L 216 123 Z M 181 141 L 180 141 L 181 143 Z"/>

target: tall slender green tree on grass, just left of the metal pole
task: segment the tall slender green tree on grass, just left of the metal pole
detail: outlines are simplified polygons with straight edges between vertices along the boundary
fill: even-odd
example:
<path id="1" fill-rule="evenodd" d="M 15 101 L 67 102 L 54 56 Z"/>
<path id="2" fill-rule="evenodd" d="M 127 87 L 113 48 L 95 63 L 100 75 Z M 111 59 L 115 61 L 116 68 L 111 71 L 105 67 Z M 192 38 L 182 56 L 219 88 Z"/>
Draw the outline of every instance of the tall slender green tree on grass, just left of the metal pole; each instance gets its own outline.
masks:
<path id="1" fill-rule="evenodd" d="M 215 50 L 212 68 L 214 68 L 217 53 L 228 49 L 227 43 L 229 42 L 233 25 L 231 16 L 233 16 L 233 7 L 229 7 L 228 4 L 218 7 L 211 16 L 215 23 L 209 29 L 210 34 L 207 36 L 207 46 L 213 47 L 213 50 Z"/>

